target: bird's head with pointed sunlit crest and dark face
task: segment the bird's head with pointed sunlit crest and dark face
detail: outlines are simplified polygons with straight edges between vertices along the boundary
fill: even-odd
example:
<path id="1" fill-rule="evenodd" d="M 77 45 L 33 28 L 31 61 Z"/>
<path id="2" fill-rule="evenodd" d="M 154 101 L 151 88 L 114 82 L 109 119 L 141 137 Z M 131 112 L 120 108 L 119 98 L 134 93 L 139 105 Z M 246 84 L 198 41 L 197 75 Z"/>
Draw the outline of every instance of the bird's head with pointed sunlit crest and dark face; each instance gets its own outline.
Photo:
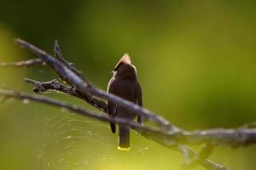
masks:
<path id="1" fill-rule="evenodd" d="M 115 65 L 113 71 L 111 71 L 113 77 L 121 78 L 137 78 L 137 71 L 134 65 L 131 65 L 131 59 L 128 54 L 125 54 Z"/>

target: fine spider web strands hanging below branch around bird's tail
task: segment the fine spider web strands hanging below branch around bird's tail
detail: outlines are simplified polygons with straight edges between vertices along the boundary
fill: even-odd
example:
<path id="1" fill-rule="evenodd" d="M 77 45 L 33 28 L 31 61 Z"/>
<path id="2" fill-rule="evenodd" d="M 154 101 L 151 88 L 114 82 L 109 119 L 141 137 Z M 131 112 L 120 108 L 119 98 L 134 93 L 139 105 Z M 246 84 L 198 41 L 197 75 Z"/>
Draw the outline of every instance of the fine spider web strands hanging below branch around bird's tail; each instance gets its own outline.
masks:
<path id="1" fill-rule="evenodd" d="M 145 144 L 133 141 L 130 151 L 119 151 L 118 135 L 111 133 L 108 123 L 67 111 L 46 117 L 44 122 L 38 170 L 115 169 L 113 162 L 129 163 L 131 158 L 142 158 L 148 150 Z M 135 133 L 131 133 L 132 140 Z"/>

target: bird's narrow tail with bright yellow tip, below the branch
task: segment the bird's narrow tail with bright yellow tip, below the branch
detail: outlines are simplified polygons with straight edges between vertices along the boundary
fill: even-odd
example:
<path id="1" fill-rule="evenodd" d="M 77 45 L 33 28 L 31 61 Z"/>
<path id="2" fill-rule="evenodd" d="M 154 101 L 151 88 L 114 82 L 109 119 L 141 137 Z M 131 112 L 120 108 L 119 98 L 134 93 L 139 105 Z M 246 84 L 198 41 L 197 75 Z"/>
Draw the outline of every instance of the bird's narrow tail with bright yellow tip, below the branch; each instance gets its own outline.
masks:
<path id="1" fill-rule="evenodd" d="M 129 128 L 119 126 L 119 150 L 130 150 L 130 132 Z"/>

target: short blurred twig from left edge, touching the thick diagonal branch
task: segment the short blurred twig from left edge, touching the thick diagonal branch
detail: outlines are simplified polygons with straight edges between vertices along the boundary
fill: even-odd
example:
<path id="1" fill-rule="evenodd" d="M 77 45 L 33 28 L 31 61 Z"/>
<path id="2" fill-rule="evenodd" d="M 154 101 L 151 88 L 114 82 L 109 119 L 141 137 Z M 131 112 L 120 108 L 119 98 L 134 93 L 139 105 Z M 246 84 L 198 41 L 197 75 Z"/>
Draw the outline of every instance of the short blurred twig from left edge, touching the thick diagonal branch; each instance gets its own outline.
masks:
<path id="1" fill-rule="evenodd" d="M 28 66 L 34 66 L 34 65 L 43 65 L 43 59 L 29 59 L 26 61 L 20 61 L 20 62 L 11 62 L 11 63 L 0 63 L 0 67 L 28 67 Z"/>

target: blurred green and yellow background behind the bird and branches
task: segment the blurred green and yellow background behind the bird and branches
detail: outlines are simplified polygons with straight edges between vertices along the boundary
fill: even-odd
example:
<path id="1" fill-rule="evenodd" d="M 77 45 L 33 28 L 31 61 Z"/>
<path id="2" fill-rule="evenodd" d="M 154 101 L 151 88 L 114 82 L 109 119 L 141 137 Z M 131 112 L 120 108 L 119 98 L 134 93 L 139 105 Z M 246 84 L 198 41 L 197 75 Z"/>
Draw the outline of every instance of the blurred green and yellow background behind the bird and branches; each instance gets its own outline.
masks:
<path id="1" fill-rule="evenodd" d="M 233 0 L 0 0 L 0 61 L 35 57 L 14 44 L 16 37 L 49 53 L 57 39 L 67 60 L 106 89 L 109 71 L 128 53 L 146 108 L 185 129 L 238 127 L 256 120 L 255 8 L 255 1 Z M 0 77 L 1 88 L 32 94 L 24 77 L 56 76 L 38 66 L 0 68 Z M 183 161 L 134 132 L 131 151 L 120 152 L 106 123 L 12 99 L 0 104 L 0 129 L 0 169 L 175 170 Z M 210 158 L 232 170 L 254 170 L 255 156 L 256 146 L 218 147 Z"/>

